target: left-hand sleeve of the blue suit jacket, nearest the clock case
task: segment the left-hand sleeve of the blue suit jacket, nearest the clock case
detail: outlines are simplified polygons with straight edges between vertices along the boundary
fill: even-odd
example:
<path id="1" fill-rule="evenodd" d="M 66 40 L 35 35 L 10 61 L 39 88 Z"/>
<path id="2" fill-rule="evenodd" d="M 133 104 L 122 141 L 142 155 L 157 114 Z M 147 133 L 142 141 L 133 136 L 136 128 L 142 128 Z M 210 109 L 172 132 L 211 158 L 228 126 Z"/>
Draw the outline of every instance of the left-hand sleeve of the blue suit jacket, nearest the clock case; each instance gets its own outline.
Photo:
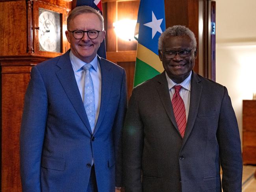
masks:
<path id="1" fill-rule="evenodd" d="M 20 128 L 20 176 L 23 192 L 41 192 L 41 153 L 48 102 L 45 84 L 36 66 L 30 76 Z"/>

